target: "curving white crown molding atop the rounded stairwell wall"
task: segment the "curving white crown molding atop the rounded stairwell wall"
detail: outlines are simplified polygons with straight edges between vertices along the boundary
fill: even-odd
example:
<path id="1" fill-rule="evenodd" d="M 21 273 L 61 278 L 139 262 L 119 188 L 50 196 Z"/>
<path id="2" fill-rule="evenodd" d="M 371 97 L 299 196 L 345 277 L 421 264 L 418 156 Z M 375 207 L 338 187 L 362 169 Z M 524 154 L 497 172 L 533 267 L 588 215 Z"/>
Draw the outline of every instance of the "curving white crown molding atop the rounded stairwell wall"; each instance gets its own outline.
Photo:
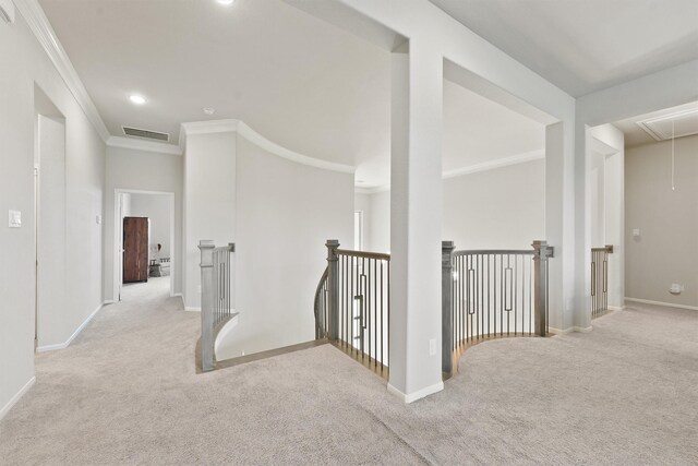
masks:
<path id="1" fill-rule="evenodd" d="M 236 119 L 194 121 L 182 123 L 182 128 L 179 133 L 179 146 L 183 153 L 188 136 L 192 134 L 213 134 L 222 132 L 237 132 L 238 135 L 246 139 L 248 141 L 265 150 L 266 152 L 278 157 L 286 158 L 287 160 L 294 162 L 297 164 L 322 168 L 324 170 L 339 171 L 342 174 L 353 175 L 353 172 L 356 171 L 356 168 L 350 165 L 335 164 L 334 162 L 322 160 L 320 158 L 310 157 L 308 155 L 299 154 L 297 152 L 282 147 L 254 131 L 244 121 Z"/>

